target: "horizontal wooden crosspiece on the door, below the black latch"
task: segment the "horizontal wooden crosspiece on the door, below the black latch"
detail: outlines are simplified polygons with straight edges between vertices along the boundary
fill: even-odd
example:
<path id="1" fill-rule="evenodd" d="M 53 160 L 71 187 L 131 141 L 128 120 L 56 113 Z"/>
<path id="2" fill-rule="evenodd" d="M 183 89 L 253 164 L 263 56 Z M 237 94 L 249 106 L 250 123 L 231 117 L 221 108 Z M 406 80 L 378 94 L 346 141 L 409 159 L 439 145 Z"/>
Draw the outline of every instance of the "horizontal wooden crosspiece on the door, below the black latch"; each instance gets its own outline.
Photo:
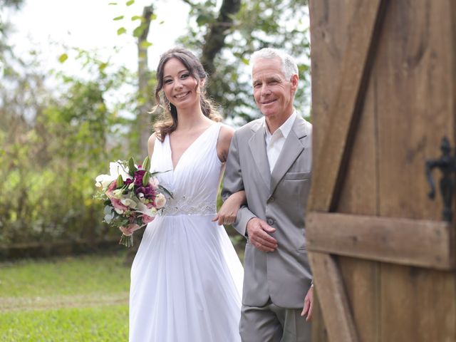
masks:
<path id="1" fill-rule="evenodd" d="M 435 269 L 454 269 L 452 229 L 447 222 L 310 212 L 311 251 Z"/>

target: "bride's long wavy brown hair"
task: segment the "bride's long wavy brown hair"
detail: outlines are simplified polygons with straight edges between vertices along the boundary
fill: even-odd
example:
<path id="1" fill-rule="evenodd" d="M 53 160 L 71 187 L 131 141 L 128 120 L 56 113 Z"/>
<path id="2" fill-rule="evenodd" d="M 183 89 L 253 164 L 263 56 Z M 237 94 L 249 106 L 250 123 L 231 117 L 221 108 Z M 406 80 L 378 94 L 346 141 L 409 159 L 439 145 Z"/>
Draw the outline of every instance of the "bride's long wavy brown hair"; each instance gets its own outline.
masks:
<path id="1" fill-rule="evenodd" d="M 165 95 L 163 95 L 164 105 L 162 105 L 160 99 L 160 93 L 162 93 L 163 89 L 163 68 L 171 58 L 177 58 L 185 68 L 187 68 L 190 75 L 197 80 L 197 87 L 200 84 L 200 81 L 207 80 L 207 73 L 204 71 L 201 62 L 186 48 L 172 48 L 160 56 L 160 62 L 157 66 L 157 88 L 155 88 L 155 102 L 157 105 L 155 108 L 161 106 L 164 110 L 162 118 L 154 125 L 155 135 L 157 135 L 157 138 L 160 141 L 163 141 L 167 134 L 172 133 L 177 128 L 177 108 L 170 103 Z M 207 82 L 204 82 L 204 86 L 200 88 L 199 104 L 201 105 L 202 113 L 207 116 L 207 118 L 219 122 L 222 120 L 222 116 L 220 116 L 214 108 L 212 101 L 206 97 L 206 83 Z"/>

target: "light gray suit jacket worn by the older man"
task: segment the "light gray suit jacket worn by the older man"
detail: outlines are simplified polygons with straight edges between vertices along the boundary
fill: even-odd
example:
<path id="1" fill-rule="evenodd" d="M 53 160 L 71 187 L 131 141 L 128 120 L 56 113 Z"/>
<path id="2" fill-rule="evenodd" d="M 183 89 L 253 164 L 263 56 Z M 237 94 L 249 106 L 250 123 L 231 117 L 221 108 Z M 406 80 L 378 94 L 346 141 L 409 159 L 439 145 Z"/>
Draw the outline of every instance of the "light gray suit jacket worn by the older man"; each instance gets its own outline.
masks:
<path id="1" fill-rule="evenodd" d="M 222 198 L 245 190 L 247 206 L 239 209 L 234 227 L 246 234 L 253 217 L 266 221 L 279 247 L 272 253 L 255 248 L 247 239 L 244 255 L 242 303 L 302 308 L 311 285 L 306 249 L 307 197 L 311 183 L 312 125 L 297 116 L 274 170 L 270 172 L 263 119 L 234 133 L 229 147 Z"/>

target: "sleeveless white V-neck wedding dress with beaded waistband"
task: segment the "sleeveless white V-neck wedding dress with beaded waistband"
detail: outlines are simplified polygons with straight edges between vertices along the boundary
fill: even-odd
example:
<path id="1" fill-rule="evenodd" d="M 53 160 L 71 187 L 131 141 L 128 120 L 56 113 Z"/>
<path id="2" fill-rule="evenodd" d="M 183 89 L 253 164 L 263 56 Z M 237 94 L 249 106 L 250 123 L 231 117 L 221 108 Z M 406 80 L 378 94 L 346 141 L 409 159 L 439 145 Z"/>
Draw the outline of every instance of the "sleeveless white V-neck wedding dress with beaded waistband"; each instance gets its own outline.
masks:
<path id="1" fill-rule="evenodd" d="M 224 227 L 211 222 L 222 163 L 220 125 L 187 148 L 172 170 L 170 139 L 155 140 L 152 171 L 172 192 L 147 225 L 133 261 L 130 342 L 240 341 L 244 270 Z"/>

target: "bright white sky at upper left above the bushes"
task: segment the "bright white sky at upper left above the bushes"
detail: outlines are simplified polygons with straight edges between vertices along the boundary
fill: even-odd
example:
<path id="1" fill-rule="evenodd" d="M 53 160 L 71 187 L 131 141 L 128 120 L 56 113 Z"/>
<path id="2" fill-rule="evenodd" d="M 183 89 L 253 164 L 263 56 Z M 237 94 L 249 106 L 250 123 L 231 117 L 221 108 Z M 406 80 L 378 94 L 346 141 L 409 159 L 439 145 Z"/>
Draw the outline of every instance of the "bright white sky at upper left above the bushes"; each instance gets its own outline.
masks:
<path id="1" fill-rule="evenodd" d="M 117 5 L 109 5 L 116 2 Z M 58 56 L 68 47 L 97 50 L 100 56 L 111 56 L 114 46 L 119 53 L 114 63 L 136 70 L 138 65 L 135 38 L 131 35 L 138 21 L 132 16 L 140 16 L 144 6 L 154 4 L 157 20 L 152 21 L 149 41 L 149 66 L 155 69 L 160 53 L 175 45 L 175 39 L 184 33 L 187 26 L 189 8 L 181 0 L 151 1 L 135 0 L 126 6 L 127 0 L 26 0 L 19 11 L 7 11 L 4 20 L 11 21 L 15 32 L 9 43 L 14 51 L 26 58 L 29 51 L 36 49 L 42 56 L 43 67 L 61 67 L 77 72 L 77 64 L 71 61 L 59 65 Z M 120 21 L 115 17 L 125 15 Z M 162 21 L 162 24 L 159 24 Z M 128 32 L 118 36 L 117 30 L 125 26 Z M 70 58 L 69 58 L 70 59 Z M 72 69 L 76 68 L 76 69 Z"/>

